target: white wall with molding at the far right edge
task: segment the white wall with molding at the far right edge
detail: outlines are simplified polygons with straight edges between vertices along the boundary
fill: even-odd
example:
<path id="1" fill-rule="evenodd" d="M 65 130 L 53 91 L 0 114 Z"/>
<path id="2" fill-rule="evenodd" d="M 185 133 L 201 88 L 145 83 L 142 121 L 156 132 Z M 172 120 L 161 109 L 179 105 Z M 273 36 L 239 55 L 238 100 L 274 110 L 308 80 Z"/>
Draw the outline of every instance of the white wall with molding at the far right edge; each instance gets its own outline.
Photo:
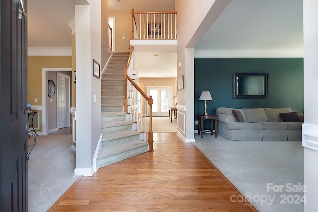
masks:
<path id="1" fill-rule="evenodd" d="M 304 21 L 304 212 L 318 209 L 318 1 L 303 0 Z M 314 93 L 313 93 L 314 92 Z"/>

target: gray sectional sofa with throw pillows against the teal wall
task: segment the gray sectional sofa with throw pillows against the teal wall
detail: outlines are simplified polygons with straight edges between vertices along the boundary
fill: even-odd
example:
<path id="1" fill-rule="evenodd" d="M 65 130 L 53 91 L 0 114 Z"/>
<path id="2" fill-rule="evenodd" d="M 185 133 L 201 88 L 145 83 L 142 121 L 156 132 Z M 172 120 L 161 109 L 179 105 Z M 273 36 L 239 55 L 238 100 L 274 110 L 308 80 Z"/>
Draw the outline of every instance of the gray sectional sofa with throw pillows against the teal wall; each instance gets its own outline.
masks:
<path id="1" fill-rule="evenodd" d="M 231 140 L 300 141 L 302 139 L 303 115 L 292 112 L 291 108 L 219 107 L 216 114 L 218 134 Z"/>

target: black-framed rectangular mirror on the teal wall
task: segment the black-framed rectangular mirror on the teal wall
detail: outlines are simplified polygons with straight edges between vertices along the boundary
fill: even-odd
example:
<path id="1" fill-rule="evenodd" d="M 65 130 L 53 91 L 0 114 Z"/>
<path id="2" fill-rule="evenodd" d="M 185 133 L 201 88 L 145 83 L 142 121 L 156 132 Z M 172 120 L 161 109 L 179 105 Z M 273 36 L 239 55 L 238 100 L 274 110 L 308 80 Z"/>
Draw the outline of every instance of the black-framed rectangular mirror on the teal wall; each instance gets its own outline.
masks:
<path id="1" fill-rule="evenodd" d="M 268 98 L 268 73 L 234 73 L 233 98 Z"/>

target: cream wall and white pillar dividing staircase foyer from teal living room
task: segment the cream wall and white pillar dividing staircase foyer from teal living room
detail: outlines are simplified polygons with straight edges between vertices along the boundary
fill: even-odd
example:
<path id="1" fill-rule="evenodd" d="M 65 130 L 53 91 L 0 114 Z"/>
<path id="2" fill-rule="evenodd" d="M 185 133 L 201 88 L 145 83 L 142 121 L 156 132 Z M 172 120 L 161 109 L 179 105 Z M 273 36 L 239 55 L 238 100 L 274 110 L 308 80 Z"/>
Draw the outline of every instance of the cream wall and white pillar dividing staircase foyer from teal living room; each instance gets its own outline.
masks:
<path id="1" fill-rule="evenodd" d="M 184 89 L 178 91 L 178 134 L 186 142 L 194 141 L 194 47 L 231 0 L 175 0 L 178 32 L 177 78 L 184 75 Z M 179 114 L 180 113 L 180 114 Z M 179 125 L 179 124 L 182 124 Z"/>

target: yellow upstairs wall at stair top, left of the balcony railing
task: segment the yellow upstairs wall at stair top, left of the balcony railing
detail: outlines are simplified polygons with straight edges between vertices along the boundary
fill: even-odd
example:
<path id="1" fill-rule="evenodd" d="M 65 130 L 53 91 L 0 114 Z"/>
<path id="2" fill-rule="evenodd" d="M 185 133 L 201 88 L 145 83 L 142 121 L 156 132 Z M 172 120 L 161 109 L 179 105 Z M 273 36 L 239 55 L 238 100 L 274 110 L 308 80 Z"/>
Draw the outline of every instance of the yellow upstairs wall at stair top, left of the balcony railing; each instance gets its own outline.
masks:
<path id="1" fill-rule="evenodd" d="M 130 52 L 131 11 L 109 11 L 109 17 L 115 17 L 114 52 Z M 125 37 L 123 39 L 122 37 Z"/>

